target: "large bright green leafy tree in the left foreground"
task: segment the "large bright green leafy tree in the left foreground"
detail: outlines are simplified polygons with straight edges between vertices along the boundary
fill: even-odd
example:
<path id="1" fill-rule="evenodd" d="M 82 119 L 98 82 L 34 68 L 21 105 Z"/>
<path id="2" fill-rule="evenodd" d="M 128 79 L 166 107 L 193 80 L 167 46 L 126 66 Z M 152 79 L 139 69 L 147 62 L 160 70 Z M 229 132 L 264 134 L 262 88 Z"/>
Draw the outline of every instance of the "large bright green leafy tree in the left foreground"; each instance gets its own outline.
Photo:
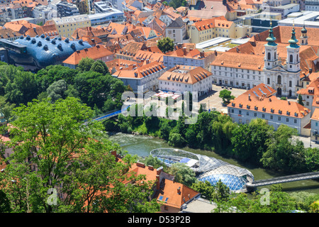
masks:
<path id="1" fill-rule="evenodd" d="M 103 139 L 103 125 L 90 121 L 93 111 L 79 99 L 33 100 L 13 114 L 6 143 L 13 154 L 0 175 L 13 212 L 158 211 L 148 199 L 153 182 L 128 174 L 130 155 L 116 162 L 111 152 L 121 148 Z M 54 191 L 64 196 L 52 203 Z"/>

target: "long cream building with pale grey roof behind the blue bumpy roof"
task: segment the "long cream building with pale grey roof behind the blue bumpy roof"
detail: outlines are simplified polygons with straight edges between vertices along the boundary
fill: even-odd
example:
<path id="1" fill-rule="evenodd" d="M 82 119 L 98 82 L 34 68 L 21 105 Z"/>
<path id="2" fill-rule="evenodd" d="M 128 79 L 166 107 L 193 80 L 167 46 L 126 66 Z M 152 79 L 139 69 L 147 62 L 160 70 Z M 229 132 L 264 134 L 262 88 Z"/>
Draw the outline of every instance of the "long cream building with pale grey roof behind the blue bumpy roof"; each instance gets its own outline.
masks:
<path id="1" fill-rule="evenodd" d="M 91 26 L 91 21 L 87 15 L 77 16 L 66 16 L 63 18 L 53 18 L 52 21 L 55 23 L 60 36 L 65 38 L 71 38 L 74 31 L 77 28 L 85 28 Z"/>

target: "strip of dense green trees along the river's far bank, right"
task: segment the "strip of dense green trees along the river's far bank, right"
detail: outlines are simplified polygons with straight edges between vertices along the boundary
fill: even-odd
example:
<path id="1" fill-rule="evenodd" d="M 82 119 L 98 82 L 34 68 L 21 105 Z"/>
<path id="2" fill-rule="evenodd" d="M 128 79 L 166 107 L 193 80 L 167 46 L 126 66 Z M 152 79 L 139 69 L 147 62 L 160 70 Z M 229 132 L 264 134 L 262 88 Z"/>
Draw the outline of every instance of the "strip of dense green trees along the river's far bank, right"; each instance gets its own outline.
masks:
<path id="1" fill-rule="evenodd" d="M 169 145 L 183 148 L 212 150 L 242 162 L 272 170 L 311 172 L 319 170 L 319 149 L 305 148 L 294 138 L 296 129 L 286 125 L 275 131 L 263 119 L 249 124 L 233 123 L 219 112 L 198 114 L 194 124 L 185 124 L 185 116 L 178 120 L 156 116 L 123 116 L 104 122 L 106 131 L 139 133 L 156 136 Z"/>

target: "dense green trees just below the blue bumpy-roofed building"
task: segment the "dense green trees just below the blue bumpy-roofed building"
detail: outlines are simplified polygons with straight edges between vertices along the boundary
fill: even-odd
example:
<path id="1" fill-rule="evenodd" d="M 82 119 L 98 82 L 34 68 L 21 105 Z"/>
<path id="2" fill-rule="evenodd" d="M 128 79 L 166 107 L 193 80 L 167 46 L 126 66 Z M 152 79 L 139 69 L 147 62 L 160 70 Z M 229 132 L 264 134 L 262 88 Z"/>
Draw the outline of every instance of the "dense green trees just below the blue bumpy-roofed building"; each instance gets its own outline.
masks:
<path id="1" fill-rule="evenodd" d="M 37 73 L 1 64 L 0 85 L 0 97 L 4 97 L 1 104 L 5 101 L 3 112 L 7 119 L 11 117 L 11 105 L 26 105 L 33 99 L 45 98 L 54 102 L 76 97 L 93 108 L 96 114 L 103 113 L 121 108 L 121 94 L 127 89 L 121 80 L 111 76 L 104 62 L 90 58 L 82 59 L 75 70 L 50 65 Z"/>

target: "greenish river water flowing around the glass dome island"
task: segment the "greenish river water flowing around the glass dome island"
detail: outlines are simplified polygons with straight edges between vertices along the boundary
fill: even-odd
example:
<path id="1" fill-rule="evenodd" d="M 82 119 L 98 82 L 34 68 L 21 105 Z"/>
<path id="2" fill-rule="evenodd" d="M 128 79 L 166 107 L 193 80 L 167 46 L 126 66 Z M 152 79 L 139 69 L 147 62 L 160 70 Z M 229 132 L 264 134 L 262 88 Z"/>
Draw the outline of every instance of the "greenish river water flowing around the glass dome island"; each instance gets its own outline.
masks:
<path id="1" fill-rule="evenodd" d="M 114 135 L 111 135 L 109 137 L 109 140 L 111 140 L 113 143 L 118 143 L 123 150 L 127 150 L 129 154 L 132 155 L 138 155 L 138 156 L 148 156 L 150 155 L 150 151 L 156 148 L 174 148 L 168 143 L 166 143 L 164 140 L 161 140 L 159 138 L 152 138 L 147 135 L 132 135 L 132 134 L 125 134 L 125 133 L 116 133 Z M 215 157 L 217 159 L 223 160 L 225 162 L 228 162 L 232 165 L 237 165 L 239 167 L 245 168 L 247 170 L 250 170 L 252 172 L 252 175 L 254 175 L 254 180 L 259 179 L 269 179 L 272 177 L 279 177 L 283 175 L 289 175 L 284 174 L 282 172 L 275 172 L 270 170 L 265 170 L 260 167 L 252 167 L 251 165 L 242 164 L 240 162 L 237 162 L 237 160 L 234 160 L 232 158 L 222 157 L 216 153 L 213 153 L 211 151 L 207 150 L 200 150 L 200 149 L 192 149 L 192 148 L 181 148 L 181 150 L 186 150 L 191 153 L 196 153 L 200 155 L 206 155 L 210 157 Z M 309 192 L 309 193 L 315 193 L 319 194 L 319 181 L 316 180 L 302 180 L 297 182 L 287 182 L 284 184 L 281 184 L 284 192 Z M 270 189 L 271 186 L 264 186 Z M 257 188 L 257 190 L 260 190 Z"/>

